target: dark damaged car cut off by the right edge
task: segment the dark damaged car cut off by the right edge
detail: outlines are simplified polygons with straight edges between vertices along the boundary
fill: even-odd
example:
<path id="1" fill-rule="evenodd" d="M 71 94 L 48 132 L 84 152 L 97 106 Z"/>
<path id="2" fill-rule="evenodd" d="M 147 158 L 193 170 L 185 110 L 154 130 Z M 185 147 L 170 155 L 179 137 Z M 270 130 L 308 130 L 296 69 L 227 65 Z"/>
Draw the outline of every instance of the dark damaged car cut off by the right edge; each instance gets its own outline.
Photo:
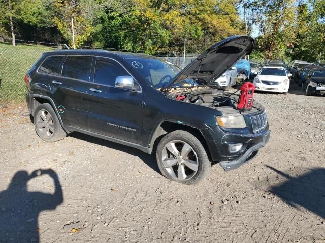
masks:
<path id="1" fill-rule="evenodd" d="M 325 68 L 313 68 L 305 80 L 306 95 L 325 94 Z"/>

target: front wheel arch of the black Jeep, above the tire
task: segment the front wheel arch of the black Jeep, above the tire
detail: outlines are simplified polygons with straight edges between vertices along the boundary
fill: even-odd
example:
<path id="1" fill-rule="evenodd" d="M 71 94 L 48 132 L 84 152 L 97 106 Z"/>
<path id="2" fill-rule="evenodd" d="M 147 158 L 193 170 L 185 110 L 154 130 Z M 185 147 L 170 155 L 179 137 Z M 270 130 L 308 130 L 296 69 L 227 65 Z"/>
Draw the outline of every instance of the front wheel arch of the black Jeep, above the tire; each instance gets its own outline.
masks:
<path id="1" fill-rule="evenodd" d="M 161 121 L 155 128 L 148 144 L 148 153 L 151 154 L 152 151 L 154 151 L 157 148 L 157 145 L 161 138 L 163 138 L 166 134 L 171 133 L 176 130 L 182 130 L 187 131 L 194 135 L 203 145 L 204 149 L 206 150 L 206 153 L 209 157 L 209 160 L 211 159 L 211 153 L 210 153 L 210 147 L 202 133 L 202 131 L 197 126 L 192 126 L 189 124 L 179 124 L 175 121 Z"/>

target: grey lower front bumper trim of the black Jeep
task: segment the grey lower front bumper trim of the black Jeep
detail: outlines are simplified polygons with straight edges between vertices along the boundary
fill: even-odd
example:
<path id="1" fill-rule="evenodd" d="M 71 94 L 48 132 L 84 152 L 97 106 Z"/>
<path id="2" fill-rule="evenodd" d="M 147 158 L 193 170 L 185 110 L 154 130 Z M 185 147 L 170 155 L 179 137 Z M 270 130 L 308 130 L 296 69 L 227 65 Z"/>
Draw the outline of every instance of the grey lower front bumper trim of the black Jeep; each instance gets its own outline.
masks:
<path id="1" fill-rule="evenodd" d="M 230 171 L 230 170 L 234 170 L 237 169 L 238 167 L 240 167 L 241 165 L 243 165 L 244 163 L 247 163 L 249 161 L 251 161 L 252 159 L 254 159 L 257 154 L 259 149 L 261 149 L 262 147 L 264 147 L 270 139 L 270 130 L 267 130 L 267 132 L 263 135 L 261 135 L 261 142 L 253 145 L 252 147 L 249 147 L 248 149 L 246 149 L 246 151 L 244 152 L 244 154 L 239 157 L 236 160 L 233 161 L 221 161 L 219 163 L 219 165 L 225 170 L 225 171 Z"/>

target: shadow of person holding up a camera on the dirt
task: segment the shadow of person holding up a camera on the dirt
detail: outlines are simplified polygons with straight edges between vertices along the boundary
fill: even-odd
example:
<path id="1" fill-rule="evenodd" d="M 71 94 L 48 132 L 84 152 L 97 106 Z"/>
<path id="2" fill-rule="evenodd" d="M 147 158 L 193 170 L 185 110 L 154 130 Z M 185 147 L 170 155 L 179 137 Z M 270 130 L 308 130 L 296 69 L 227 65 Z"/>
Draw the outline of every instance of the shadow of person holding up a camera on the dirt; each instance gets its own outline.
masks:
<path id="1" fill-rule="evenodd" d="M 27 182 L 41 175 L 53 179 L 54 194 L 27 190 Z M 0 192 L 0 239 L 4 242 L 39 242 L 38 216 L 63 202 L 57 174 L 51 170 L 17 171 L 8 188 Z"/>

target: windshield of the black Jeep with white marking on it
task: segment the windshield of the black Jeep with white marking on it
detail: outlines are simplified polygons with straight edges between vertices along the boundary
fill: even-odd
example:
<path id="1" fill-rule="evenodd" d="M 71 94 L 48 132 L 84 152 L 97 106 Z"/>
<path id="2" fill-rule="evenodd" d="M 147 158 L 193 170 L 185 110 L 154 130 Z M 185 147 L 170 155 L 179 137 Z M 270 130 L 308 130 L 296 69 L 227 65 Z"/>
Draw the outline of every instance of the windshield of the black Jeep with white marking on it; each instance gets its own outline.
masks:
<path id="1" fill-rule="evenodd" d="M 158 58 L 126 58 L 125 60 L 155 89 L 169 85 L 181 71 L 174 64 Z"/>

